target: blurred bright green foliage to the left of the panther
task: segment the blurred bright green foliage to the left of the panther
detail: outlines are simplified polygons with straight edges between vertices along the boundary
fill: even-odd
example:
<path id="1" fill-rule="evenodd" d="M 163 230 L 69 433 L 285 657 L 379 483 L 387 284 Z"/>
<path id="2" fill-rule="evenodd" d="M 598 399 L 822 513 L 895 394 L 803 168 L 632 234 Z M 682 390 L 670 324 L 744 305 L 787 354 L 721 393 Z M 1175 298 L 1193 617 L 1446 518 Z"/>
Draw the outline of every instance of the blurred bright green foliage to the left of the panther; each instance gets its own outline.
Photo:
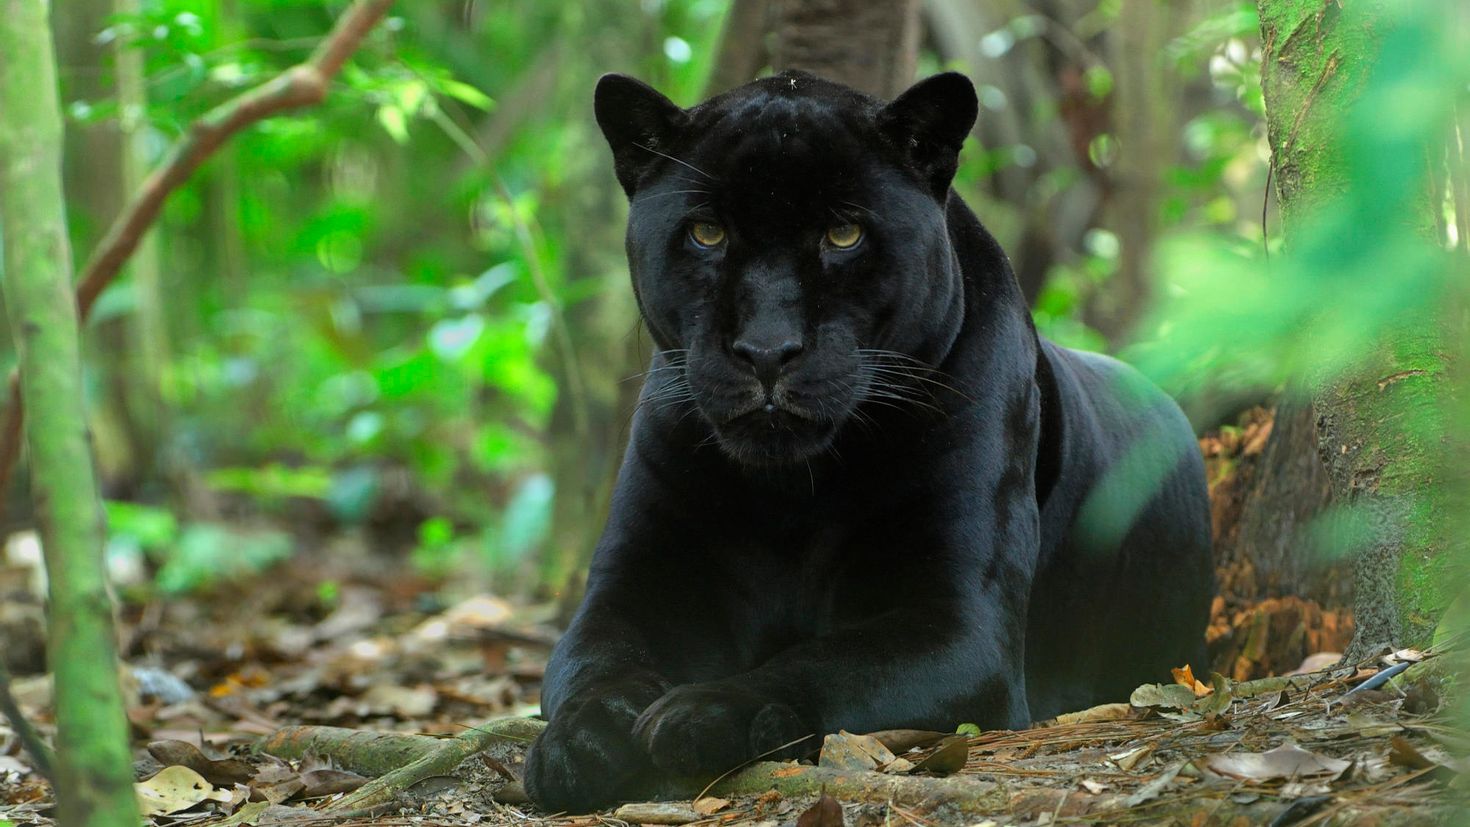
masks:
<path id="1" fill-rule="evenodd" d="M 276 516 L 316 504 L 345 524 L 409 479 L 434 511 L 415 551 L 426 571 L 535 555 L 550 445 L 566 438 L 551 423 L 564 366 L 550 332 L 560 313 L 626 289 L 591 90 L 619 69 L 692 103 L 725 7 L 397 7 L 323 106 L 238 135 L 168 201 L 165 455 L 200 469 L 215 496 Z M 143 53 L 147 106 L 119 112 L 107 59 L 101 94 L 68 94 L 71 126 L 140 120 L 156 163 L 193 119 L 304 59 L 341 10 L 143 0 L 98 18 L 97 44 Z M 106 216 L 85 200 L 74 210 L 87 248 Z M 132 325 L 140 301 L 131 282 L 113 285 L 94 328 Z M 106 335 L 91 339 L 90 361 L 107 366 L 93 402 L 107 408 L 106 372 L 123 363 L 103 358 Z M 166 589 L 285 548 L 188 520 L 150 526 L 162 513 L 113 504 L 112 524 L 154 557 Z"/>

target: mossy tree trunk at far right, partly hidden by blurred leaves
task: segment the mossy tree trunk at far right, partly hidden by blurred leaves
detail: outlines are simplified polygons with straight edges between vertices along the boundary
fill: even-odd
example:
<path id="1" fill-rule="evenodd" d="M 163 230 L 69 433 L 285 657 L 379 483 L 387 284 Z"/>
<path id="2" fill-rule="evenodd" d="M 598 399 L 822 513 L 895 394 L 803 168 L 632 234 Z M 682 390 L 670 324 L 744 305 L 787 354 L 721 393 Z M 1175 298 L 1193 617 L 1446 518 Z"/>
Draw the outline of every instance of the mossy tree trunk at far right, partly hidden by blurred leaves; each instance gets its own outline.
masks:
<path id="1" fill-rule="evenodd" d="M 1267 137 L 1288 245 L 1295 229 L 1348 191 L 1338 123 L 1372 75 L 1395 9 L 1385 1 L 1347 9 L 1338 0 L 1258 0 Z M 1429 169 L 1429 147 L 1423 151 L 1420 167 Z M 1426 239 L 1435 232 L 1429 188 L 1421 209 L 1402 220 Z M 1370 358 L 1317 382 L 1313 394 L 1332 496 L 1372 529 L 1354 561 L 1349 658 L 1423 643 L 1445 602 L 1449 555 L 1439 469 L 1446 345 L 1432 320 L 1395 319 Z"/>

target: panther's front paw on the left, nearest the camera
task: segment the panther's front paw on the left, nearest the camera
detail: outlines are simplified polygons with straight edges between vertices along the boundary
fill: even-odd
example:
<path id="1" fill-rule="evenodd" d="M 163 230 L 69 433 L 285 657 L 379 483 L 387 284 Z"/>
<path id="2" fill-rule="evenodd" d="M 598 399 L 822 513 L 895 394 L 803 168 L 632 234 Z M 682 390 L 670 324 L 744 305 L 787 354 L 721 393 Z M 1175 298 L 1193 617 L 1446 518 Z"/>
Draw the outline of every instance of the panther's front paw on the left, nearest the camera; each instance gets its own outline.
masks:
<path id="1" fill-rule="evenodd" d="M 526 752 L 531 801 L 547 812 L 591 812 L 634 796 L 651 770 L 634 723 L 660 690 L 620 686 L 569 702 Z"/>

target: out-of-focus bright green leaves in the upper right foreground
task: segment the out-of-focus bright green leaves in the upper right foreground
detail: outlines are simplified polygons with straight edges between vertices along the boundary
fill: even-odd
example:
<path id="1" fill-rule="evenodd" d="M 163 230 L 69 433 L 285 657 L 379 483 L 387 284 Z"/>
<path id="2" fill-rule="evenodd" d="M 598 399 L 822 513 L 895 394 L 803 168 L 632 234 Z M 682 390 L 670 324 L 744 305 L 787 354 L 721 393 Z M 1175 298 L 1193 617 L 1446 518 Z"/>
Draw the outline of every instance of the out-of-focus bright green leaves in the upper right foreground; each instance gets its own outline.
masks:
<path id="1" fill-rule="evenodd" d="M 1429 191 L 1421 148 L 1448 129 L 1466 62 L 1420 15 L 1386 37 L 1338 132 L 1344 191 L 1307 216 L 1288 248 L 1182 234 L 1160 253 L 1169 298 L 1139 364 L 1175 392 L 1208 382 L 1273 388 L 1345 370 L 1405 319 L 1442 319 L 1451 261 L 1416 225 Z M 1373 56 L 1366 56 L 1373 59 Z M 1427 322 L 1433 323 L 1433 322 Z"/>

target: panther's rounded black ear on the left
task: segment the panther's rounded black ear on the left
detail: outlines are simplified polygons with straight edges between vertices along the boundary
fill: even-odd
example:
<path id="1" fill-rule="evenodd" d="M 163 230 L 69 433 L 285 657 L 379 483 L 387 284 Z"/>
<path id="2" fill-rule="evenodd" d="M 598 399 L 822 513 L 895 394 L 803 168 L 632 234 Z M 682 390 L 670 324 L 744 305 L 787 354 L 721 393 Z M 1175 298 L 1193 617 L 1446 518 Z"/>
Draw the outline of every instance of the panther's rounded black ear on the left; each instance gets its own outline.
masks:
<path id="1" fill-rule="evenodd" d="M 597 125 L 613 148 L 617 182 L 632 197 L 648 166 L 669 151 L 686 115 L 659 90 L 628 75 L 603 75 L 592 97 Z"/>

